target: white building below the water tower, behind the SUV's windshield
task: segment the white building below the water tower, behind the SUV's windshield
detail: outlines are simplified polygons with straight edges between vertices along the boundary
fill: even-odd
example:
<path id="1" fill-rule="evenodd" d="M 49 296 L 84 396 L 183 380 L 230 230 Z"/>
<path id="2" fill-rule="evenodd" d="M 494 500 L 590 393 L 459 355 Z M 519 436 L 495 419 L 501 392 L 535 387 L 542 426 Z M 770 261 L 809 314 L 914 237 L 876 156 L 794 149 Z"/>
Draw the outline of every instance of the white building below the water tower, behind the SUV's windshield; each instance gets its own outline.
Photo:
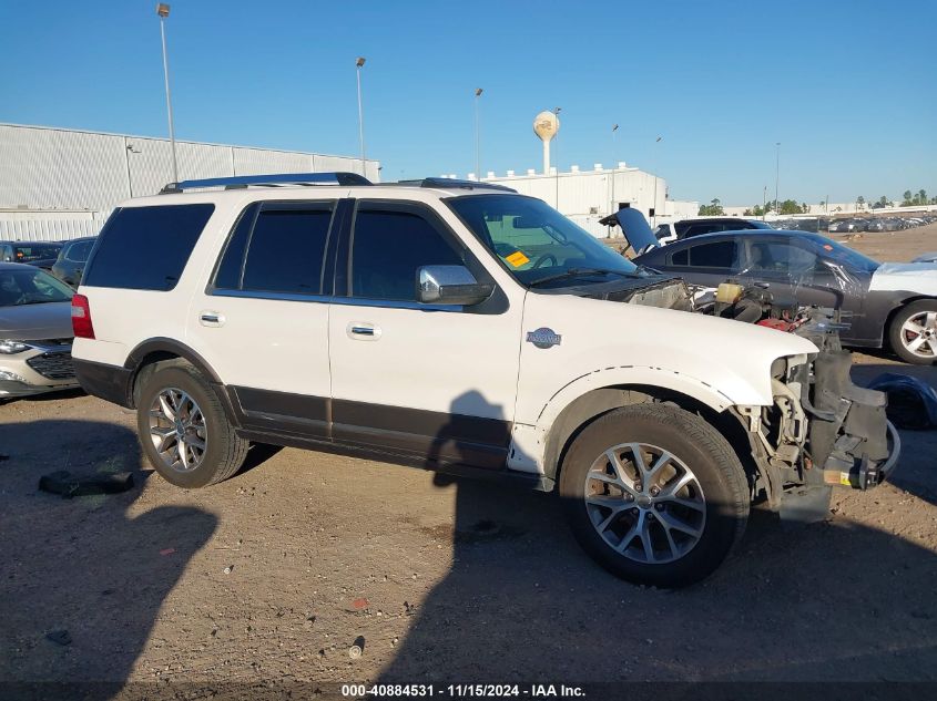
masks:
<path id="1" fill-rule="evenodd" d="M 475 174 L 469 179 L 476 179 Z M 489 171 L 481 181 L 539 197 L 597 237 L 620 236 L 618 228 L 610 231 L 599 220 L 623 207 L 640 209 L 653 224 L 696 216 L 700 209 L 699 203 L 670 199 L 666 181 L 623 162 L 613 168 L 597 163 L 591 171 L 573 165 L 567 173 L 556 167 L 549 174 L 508 171 L 503 177 Z"/>

